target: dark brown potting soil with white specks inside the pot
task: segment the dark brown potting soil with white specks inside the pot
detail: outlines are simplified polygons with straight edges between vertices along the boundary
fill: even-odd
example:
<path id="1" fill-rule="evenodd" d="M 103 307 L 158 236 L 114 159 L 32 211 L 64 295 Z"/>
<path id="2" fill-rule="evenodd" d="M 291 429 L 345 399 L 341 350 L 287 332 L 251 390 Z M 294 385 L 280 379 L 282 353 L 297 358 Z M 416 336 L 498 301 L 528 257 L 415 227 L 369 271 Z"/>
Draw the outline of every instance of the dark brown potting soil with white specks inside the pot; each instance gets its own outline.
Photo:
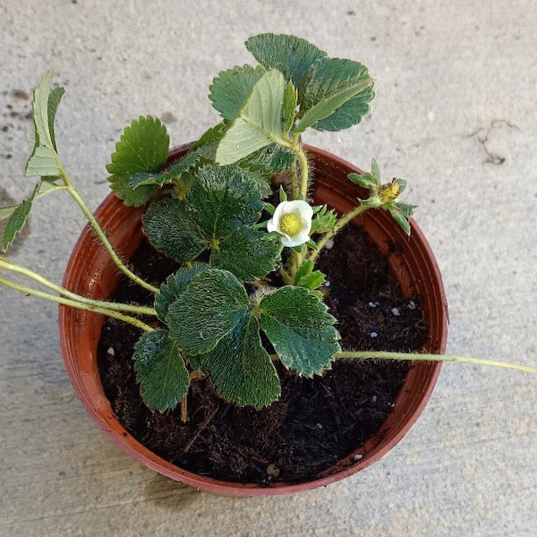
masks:
<path id="1" fill-rule="evenodd" d="M 175 270 L 148 244 L 131 260 L 142 277 Z M 328 277 L 326 302 L 343 349 L 409 351 L 427 337 L 418 298 L 407 299 L 388 276 L 388 262 L 361 230 L 349 226 L 317 263 Z M 123 281 L 115 300 L 147 303 Z M 216 396 L 209 379 L 192 380 L 188 422 L 177 407 L 152 413 L 143 404 L 132 365 L 140 331 L 107 319 L 98 347 L 108 399 L 124 427 L 151 451 L 193 473 L 229 482 L 314 479 L 377 433 L 394 406 L 407 362 L 344 361 L 324 376 L 303 379 L 278 367 L 282 396 L 256 411 Z"/>

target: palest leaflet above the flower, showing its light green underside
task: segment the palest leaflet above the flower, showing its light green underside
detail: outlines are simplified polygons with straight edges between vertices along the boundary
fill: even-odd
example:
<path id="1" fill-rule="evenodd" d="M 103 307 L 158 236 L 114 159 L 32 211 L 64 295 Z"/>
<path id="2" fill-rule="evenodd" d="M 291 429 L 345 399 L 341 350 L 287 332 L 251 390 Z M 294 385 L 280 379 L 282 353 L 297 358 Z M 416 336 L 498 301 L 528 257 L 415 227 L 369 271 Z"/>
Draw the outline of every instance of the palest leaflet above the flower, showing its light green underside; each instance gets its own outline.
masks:
<path id="1" fill-rule="evenodd" d="M 271 70 L 260 78 L 239 116 L 218 144 L 218 164 L 233 164 L 258 149 L 282 141 L 285 92 L 286 80 L 281 72 Z"/>

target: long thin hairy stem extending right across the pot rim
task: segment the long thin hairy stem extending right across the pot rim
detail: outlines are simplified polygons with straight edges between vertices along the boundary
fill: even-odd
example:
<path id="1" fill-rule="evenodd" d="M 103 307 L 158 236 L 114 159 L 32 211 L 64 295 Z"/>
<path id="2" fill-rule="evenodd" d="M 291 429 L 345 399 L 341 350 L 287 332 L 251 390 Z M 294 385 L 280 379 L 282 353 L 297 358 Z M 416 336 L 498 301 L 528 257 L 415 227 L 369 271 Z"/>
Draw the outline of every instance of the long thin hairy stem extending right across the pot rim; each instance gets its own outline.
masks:
<path id="1" fill-rule="evenodd" d="M 335 354 L 336 359 L 346 360 L 365 360 L 372 358 L 373 360 L 410 360 L 413 362 L 459 362 L 473 363 L 476 365 L 489 365 L 492 367 L 501 367 L 504 369 L 512 369 L 516 371 L 525 371 L 537 375 L 537 367 L 529 365 L 520 365 L 517 363 L 501 362 L 499 360 L 486 360 L 484 358 L 468 358 L 466 356 L 453 356 L 448 354 L 419 354 L 419 353 L 388 353 L 383 351 L 345 351 Z"/>

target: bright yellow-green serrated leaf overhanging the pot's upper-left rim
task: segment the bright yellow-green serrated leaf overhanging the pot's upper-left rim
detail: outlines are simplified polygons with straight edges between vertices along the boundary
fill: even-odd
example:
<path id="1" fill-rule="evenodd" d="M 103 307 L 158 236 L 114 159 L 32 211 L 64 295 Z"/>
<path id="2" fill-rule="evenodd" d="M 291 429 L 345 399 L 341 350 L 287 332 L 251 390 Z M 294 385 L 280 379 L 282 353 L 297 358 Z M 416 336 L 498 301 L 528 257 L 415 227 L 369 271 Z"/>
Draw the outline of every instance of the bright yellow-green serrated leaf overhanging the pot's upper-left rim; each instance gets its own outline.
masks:
<path id="1" fill-rule="evenodd" d="M 140 116 L 125 128 L 107 165 L 110 186 L 125 205 L 140 207 L 157 192 L 154 184 L 132 187 L 130 181 L 136 174 L 157 173 L 166 164 L 168 149 L 166 126 L 158 118 Z"/>

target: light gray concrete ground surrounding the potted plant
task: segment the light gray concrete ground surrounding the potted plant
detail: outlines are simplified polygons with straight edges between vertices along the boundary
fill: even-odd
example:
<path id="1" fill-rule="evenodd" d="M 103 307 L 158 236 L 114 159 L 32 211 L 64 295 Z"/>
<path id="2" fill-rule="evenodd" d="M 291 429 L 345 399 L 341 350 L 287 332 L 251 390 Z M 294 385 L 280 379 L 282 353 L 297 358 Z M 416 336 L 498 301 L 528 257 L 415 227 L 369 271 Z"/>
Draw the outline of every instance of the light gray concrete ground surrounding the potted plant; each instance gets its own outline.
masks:
<path id="1" fill-rule="evenodd" d="M 195 139 L 217 121 L 212 77 L 251 61 L 243 41 L 295 33 L 377 81 L 363 124 L 307 141 L 410 180 L 447 288 L 447 351 L 536 364 L 536 29 L 534 0 L 7 0 L 0 193 L 32 188 L 27 96 L 47 68 L 67 90 L 61 154 L 95 208 L 133 117 L 160 115 L 175 144 Z M 83 225 L 60 197 L 38 203 L 11 254 L 57 282 Z M 220 498 L 149 471 L 91 421 L 54 305 L 4 288 L 0 301 L 1 535 L 537 535 L 531 375 L 447 364 L 422 418 L 370 469 L 288 498 Z"/>

